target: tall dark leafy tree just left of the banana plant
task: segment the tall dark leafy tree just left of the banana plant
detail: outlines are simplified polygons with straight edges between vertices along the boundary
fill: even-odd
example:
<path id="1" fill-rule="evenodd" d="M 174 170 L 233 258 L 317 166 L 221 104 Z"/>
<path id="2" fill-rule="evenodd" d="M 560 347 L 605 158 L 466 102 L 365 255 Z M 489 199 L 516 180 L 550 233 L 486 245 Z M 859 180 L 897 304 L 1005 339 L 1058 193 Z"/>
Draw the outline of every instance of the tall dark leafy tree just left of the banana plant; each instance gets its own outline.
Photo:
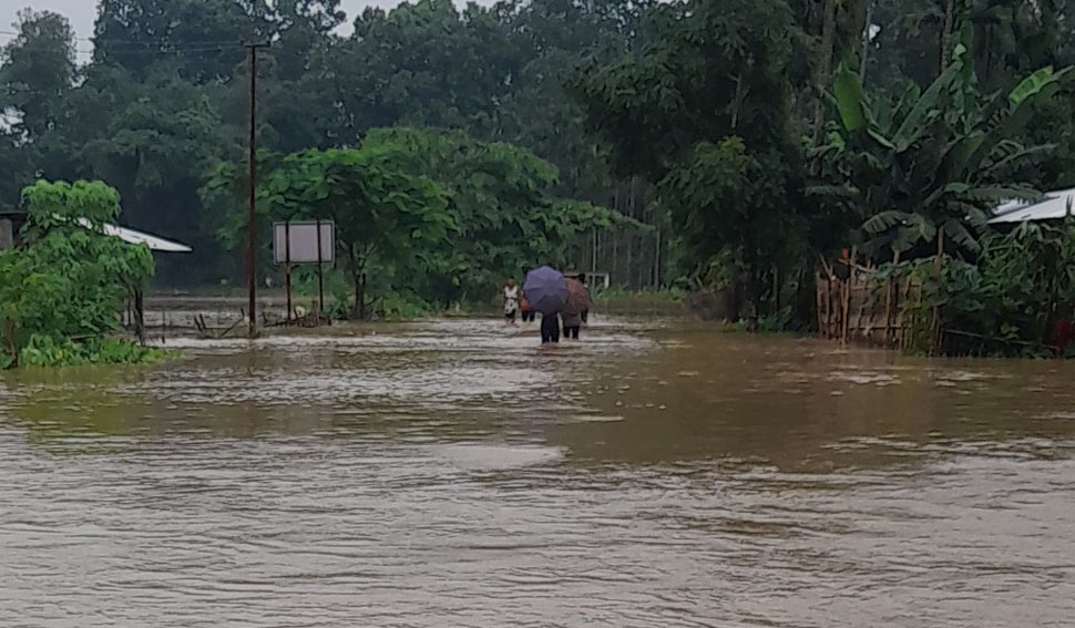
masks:
<path id="1" fill-rule="evenodd" d="M 654 10 L 649 45 L 574 84 L 620 172 L 656 186 L 700 266 L 728 248 L 747 301 L 800 231 L 802 159 L 791 113 L 803 39 L 784 2 L 677 2 Z M 761 173 L 765 173 L 764 175 Z M 780 234 L 769 230 L 779 224 Z"/>

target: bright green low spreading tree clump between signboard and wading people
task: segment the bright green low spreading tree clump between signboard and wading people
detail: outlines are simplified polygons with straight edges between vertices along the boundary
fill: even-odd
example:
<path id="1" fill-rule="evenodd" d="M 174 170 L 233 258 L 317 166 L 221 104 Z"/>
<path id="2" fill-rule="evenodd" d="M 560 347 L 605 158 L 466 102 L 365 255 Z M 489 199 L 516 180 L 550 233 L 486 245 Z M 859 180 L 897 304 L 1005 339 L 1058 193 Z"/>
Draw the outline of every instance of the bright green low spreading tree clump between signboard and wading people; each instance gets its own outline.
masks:
<path id="1" fill-rule="evenodd" d="M 369 294 L 440 307 L 481 302 L 508 275 L 566 265 L 580 234 L 642 228 L 554 195 L 556 168 L 533 153 L 458 131 L 378 128 L 358 150 L 263 154 L 259 168 L 266 217 L 337 223 L 358 317 L 370 313 Z M 222 235 L 235 243 L 245 230 L 244 183 L 242 167 L 224 164 L 204 191 L 207 204 L 231 209 Z"/>

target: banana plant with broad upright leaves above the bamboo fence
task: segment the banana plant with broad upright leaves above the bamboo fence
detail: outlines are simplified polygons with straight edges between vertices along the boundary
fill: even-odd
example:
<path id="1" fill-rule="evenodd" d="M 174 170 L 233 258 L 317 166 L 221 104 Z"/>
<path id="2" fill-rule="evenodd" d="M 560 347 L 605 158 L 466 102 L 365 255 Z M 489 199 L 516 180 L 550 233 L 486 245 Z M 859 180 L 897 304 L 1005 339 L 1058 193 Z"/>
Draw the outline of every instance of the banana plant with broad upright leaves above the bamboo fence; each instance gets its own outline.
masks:
<path id="1" fill-rule="evenodd" d="M 858 216 L 868 251 L 933 243 L 940 256 L 948 241 L 975 253 L 993 207 L 1040 197 L 1021 173 L 1051 146 L 1026 146 L 1020 135 L 1034 102 L 1052 96 L 1069 71 L 1043 68 L 1005 99 L 983 96 L 961 43 L 924 91 L 874 100 L 841 64 L 832 89 L 840 124 L 815 151 L 827 181 L 812 189 Z"/>

